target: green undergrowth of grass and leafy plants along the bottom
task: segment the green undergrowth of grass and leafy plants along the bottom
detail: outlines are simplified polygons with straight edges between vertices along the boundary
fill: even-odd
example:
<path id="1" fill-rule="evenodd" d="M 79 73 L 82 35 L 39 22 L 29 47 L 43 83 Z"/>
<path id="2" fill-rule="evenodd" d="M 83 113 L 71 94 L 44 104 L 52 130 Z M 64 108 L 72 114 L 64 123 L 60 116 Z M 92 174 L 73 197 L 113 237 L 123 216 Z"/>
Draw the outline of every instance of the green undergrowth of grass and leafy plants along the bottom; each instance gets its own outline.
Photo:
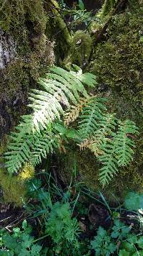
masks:
<path id="1" fill-rule="evenodd" d="M 31 202 L 24 208 L 30 218 L 10 227 L 10 232 L 0 229 L 1 255 L 142 255 L 142 194 L 128 193 L 122 205 L 117 201 L 111 208 L 101 192 L 94 193 L 74 179 L 69 182 L 60 188 L 44 170 L 29 181 Z M 106 213 L 101 224 L 89 218 L 91 206 L 100 210 L 92 212 L 95 219 Z M 134 219 L 122 219 L 128 211 Z M 105 229 L 107 219 L 110 224 Z"/>

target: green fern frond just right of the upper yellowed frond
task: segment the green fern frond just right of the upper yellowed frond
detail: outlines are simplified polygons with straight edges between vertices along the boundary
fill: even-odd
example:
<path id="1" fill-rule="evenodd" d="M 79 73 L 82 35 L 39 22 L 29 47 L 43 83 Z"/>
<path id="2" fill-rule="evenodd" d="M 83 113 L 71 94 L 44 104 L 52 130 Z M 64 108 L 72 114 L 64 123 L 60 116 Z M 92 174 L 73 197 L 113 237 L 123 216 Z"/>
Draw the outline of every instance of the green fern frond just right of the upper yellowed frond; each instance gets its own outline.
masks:
<path id="1" fill-rule="evenodd" d="M 104 119 L 104 111 L 106 110 L 104 101 L 107 101 L 107 99 L 94 98 L 92 102 L 84 106 L 79 122 L 79 133 L 83 139 L 94 136 L 97 129 L 99 129 L 99 122 Z"/>

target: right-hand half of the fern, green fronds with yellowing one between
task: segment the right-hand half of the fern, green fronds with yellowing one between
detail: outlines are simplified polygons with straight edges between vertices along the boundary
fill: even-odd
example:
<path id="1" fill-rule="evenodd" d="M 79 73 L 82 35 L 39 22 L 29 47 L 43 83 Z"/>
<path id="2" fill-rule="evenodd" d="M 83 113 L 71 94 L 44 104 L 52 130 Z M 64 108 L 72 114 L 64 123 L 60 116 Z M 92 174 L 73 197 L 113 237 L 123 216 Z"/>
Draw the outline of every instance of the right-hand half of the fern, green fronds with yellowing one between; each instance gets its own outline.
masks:
<path id="1" fill-rule="evenodd" d="M 135 147 L 132 134 L 138 134 L 134 122 L 124 122 L 114 114 L 107 114 L 104 106 L 106 99 L 92 99 L 82 109 L 79 116 L 79 134 L 81 150 L 89 148 L 102 163 L 99 169 L 99 180 L 103 186 L 109 183 L 120 166 L 132 160 Z"/>

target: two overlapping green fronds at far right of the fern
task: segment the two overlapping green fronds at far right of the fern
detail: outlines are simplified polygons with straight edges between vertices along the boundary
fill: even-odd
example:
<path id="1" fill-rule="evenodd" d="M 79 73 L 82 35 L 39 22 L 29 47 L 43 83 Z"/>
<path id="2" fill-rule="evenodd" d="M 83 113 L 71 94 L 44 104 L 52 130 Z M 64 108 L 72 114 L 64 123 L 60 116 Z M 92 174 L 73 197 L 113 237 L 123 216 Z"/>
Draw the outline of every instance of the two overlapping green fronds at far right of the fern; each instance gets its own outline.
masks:
<path id="1" fill-rule="evenodd" d="M 135 147 L 135 145 L 134 141 L 129 138 L 129 136 L 132 137 L 132 134 L 139 134 L 134 122 L 130 120 L 121 122 L 119 120 L 117 133 L 112 134 L 112 139 L 104 140 L 101 146 L 103 153 L 98 157 L 103 164 L 103 167 L 99 170 L 99 180 L 103 186 L 109 183 L 109 180 L 118 172 L 120 166 L 127 165 L 133 159 L 134 151 L 132 147 Z"/>

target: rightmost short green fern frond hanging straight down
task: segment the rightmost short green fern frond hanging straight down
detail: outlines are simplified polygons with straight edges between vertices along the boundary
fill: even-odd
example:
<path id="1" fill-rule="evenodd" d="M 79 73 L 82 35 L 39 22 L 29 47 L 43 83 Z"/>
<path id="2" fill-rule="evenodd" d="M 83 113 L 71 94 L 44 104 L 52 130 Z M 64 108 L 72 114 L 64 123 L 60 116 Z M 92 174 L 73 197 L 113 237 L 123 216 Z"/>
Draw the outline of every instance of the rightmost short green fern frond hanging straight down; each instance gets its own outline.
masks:
<path id="1" fill-rule="evenodd" d="M 127 163 L 129 163 L 129 161 L 133 159 L 134 151 L 132 150 L 132 148 L 135 147 L 135 144 L 132 140 L 132 134 L 139 134 L 134 122 L 130 120 L 126 120 L 124 122 L 120 121 L 119 129 L 116 136 L 116 154 L 119 166 L 127 165 Z"/>

